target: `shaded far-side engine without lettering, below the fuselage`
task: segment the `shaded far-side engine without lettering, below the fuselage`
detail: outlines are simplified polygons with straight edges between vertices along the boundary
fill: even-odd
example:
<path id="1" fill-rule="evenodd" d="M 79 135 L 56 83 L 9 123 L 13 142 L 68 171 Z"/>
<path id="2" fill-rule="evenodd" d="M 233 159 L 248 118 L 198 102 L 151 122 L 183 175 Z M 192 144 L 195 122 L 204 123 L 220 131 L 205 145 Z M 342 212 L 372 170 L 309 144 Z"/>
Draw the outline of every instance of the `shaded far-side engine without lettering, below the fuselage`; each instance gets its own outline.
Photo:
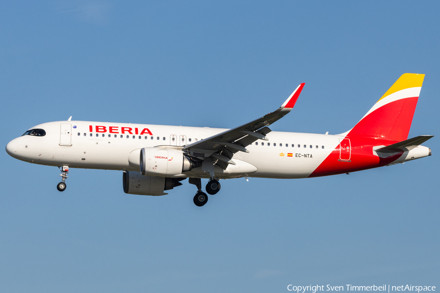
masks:
<path id="1" fill-rule="evenodd" d="M 139 172 L 123 172 L 122 185 L 125 193 L 140 195 L 165 195 L 164 190 L 170 190 L 182 185 L 179 181 L 186 178 L 165 178 L 143 176 Z"/>

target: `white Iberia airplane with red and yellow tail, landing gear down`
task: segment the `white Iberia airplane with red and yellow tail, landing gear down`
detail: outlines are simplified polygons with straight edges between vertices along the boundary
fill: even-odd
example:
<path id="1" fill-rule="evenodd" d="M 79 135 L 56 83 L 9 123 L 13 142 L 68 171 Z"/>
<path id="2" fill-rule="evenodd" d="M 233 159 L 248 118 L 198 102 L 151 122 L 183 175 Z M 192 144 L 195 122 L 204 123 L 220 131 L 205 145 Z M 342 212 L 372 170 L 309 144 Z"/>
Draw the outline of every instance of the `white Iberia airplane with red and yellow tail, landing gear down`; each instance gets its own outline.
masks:
<path id="1" fill-rule="evenodd" d="M 431 155 L 421 146 L 433 135 L 408 139 L 424 74 L 405 73 L 347 132 L 329 135 L 271 131 L 294 107 L 304 83 L 280 108 L 232 129 L 89 121 L 34 126 L 6 145 L 12 157 L 59 167 L 66 189 L 69 168 L 123 171 L 129 194 L 165 195 L 189 183 L 194 204 L 220 190 L 220 179 L 311 178 L 390 166 Z"/>

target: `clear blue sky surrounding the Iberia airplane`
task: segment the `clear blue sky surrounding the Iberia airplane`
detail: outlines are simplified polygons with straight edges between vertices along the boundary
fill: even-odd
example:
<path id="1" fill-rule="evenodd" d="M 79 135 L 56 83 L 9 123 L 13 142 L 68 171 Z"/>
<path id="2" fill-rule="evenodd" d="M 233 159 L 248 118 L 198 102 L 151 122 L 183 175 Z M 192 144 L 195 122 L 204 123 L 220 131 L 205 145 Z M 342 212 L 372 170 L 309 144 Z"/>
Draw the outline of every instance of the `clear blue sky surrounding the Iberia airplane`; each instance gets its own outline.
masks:
<path id="1" fill-rule="evenodd" d="M 0 9 L 2 144 L 49 121 L 350 129 L 405 73 L 426 74 L 409 136 L 439 135 L 437 1 L 11 1 Z M 433 156 L 350 175 L 125 194 L 122 172 L 1 153 L 1 292 L 286 292 L 440 286 Z M 203 183 L 204 185 L 205 183 Z"/>

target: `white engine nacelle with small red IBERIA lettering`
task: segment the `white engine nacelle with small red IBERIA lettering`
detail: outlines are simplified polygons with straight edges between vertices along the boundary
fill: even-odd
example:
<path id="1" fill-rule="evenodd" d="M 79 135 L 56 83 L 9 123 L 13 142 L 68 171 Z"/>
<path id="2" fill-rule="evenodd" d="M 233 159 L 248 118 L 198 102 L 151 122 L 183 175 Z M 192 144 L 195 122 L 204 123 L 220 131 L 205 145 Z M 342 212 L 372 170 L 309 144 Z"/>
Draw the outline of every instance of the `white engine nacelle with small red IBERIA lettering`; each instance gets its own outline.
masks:
<path id="1" fill-rule="evenodd" d="M 182 151 L 171 148 L 144 147 L 140 150 L 142 175 L 173 177 L 196 166 Z"/>

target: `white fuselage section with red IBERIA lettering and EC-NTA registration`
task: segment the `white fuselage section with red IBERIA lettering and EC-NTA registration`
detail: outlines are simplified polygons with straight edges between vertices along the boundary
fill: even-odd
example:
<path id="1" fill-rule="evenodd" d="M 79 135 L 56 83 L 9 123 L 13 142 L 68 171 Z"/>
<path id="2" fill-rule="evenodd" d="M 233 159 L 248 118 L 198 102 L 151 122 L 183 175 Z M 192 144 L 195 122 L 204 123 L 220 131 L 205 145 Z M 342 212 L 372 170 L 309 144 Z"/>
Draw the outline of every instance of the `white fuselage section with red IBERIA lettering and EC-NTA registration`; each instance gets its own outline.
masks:
<path id="1" fill-rule="evenodd" d="M 139 171 L 129 163 L 132 151 L 189 145 L 226 130 L 87 121 L 49 122 L 33 128 L 44 129 L 45 135 L 24 135 L 12 140 L 6 146 L 9 154 L 40 165 L 129 171 Z M 266 138 L 268 141 L 258 140 L 247 146 L 249 153 L 235 153 L 232 159 L 237 165 L 229 165 L 226 170 L 217 167 L 216 177 L 305 178 L 343 136 L 272 131 Z M 200 167 L 175 177 L 182 176 L 209 178 Z"/>

